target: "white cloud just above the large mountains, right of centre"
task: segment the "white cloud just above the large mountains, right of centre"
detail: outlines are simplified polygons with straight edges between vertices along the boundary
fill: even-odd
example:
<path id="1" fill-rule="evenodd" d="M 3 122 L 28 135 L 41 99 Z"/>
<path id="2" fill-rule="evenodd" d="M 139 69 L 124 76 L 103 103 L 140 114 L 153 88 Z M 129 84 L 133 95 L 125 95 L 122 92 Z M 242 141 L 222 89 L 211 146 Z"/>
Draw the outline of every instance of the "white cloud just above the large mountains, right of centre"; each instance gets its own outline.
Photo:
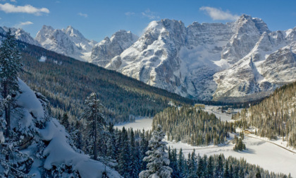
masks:
<path id="1" fill-rule="evenodd" d="M 199 8 L 200 11 L 206 11 L 206 13 L 213 19 L 213 20 L 238 20 L 240 16 L 233 15 L 230 11 L 221 11 L 218 8 L 213 8 L 209 6 L 202 6 Z"/>

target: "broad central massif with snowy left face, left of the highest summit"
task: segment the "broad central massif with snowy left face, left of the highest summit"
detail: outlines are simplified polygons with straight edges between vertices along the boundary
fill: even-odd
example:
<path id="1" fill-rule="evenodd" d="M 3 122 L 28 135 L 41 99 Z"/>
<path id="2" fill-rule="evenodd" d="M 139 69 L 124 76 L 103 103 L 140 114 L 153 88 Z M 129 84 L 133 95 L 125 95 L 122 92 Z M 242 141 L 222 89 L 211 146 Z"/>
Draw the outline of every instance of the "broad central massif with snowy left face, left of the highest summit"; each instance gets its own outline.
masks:
<path id="1" fill-rule="evenodd" d="M 106 68 L 186 97 L 209 100 L 216 89 L 212 76 L 220 70 L 211 59 L 219 59 L 231 35 L 231 26 L 222 23 L 192 23 L 185 28 L 177 20 L 153 21 Z"/>

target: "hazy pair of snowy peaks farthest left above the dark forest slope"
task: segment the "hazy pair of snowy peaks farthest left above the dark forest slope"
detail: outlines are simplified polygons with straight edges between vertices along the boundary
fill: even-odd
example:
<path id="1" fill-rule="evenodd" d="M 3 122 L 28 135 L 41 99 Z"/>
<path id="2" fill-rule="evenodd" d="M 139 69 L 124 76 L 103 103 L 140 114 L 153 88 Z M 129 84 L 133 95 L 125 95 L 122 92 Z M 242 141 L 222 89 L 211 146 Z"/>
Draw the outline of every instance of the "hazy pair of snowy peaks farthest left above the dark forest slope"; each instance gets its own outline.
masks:
<path id="1" fill-rule="evenodd" d="M 90 61 L 92 47 L 97 44 L 94 40 L 87 40 L 72 26 L 60 30 L 44 25 L 42 29 L 37 32 L 35 40 L 45 49 L 81 61 Z"/>

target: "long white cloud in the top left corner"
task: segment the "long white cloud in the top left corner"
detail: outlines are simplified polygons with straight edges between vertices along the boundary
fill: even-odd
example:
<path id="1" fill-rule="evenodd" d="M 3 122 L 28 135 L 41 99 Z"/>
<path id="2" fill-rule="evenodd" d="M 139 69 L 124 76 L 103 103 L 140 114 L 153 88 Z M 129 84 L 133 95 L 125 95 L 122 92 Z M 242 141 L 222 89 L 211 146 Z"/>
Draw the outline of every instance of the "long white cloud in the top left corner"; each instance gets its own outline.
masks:
<path id="1" fill-rule="evenodd" d="M 0 11 L 5 13 L 32 13 L 36 16 L 41 16 L 42 13 L 49 13 L 48 8 L 35 8 L 31 5 L 15 6 L 13 4 L 0 4 Z"/>

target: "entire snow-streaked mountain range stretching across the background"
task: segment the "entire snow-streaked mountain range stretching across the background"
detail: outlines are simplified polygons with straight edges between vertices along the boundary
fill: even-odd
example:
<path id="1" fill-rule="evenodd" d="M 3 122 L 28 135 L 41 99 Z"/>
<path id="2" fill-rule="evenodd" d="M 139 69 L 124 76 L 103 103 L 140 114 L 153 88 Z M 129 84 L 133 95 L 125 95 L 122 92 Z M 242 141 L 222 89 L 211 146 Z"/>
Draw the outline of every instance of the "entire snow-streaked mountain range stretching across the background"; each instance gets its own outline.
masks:
<path id="1" fill-rule="evenodd" d="M 35 39 L 12 31 L 32 45 L 198 100 L 255 100 L 296 79 L 296 28 L 271 32 L 247 15 L 187 27 L 178 20 L 152 21 L 140 37 L 119 30 L 99 43 L 71 26 L 44 25 Z"/>

